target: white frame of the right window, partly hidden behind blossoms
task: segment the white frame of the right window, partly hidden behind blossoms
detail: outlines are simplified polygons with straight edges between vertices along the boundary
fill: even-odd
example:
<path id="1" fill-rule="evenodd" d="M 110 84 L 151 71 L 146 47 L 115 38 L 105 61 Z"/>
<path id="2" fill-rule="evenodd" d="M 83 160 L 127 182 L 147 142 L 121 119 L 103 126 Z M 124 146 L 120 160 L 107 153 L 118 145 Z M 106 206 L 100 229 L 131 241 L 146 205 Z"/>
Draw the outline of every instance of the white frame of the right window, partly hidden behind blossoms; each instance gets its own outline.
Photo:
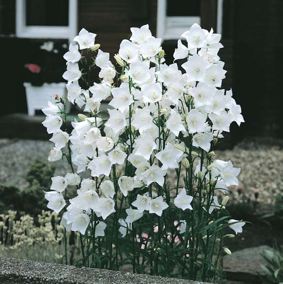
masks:
<path id="1" fill-rule="evenodd" d="M 193 24 L 200 25 L 200 17 L 168 17 L 166 15 L 167 0 L 157 2 L 157 37 L 162 40 L 179 39 L 181 34 Z M 222 32 L 223 0 L 217 1 L 217 33 Z"/>

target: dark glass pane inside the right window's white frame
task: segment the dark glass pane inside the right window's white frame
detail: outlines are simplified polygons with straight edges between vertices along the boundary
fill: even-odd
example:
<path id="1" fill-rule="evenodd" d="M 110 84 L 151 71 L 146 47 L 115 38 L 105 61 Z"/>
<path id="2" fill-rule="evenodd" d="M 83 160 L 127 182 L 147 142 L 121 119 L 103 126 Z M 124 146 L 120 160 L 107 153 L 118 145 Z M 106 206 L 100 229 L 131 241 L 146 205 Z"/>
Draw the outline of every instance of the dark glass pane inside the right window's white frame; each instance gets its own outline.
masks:
<path id="1" fill-rule="evenodd" d="M 167 16 L 200 16 L 200 0 L 167 0 Z"/>

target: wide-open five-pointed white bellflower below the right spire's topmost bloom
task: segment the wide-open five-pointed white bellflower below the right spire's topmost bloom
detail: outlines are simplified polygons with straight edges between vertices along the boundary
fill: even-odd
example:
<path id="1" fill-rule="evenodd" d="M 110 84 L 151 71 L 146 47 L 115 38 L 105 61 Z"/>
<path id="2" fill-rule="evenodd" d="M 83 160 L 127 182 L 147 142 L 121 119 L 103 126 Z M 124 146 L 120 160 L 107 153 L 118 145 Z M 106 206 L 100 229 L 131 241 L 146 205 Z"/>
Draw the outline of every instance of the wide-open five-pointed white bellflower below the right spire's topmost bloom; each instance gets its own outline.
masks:
<path id="1" fill-rule="evenodd" d="M 181 66 L 187 73 L 188 81 L 203 81 L 206 70 L 210 67 L 210 63 L 194 54 L 189 57 L 189 61 L 185 62 Z"/>

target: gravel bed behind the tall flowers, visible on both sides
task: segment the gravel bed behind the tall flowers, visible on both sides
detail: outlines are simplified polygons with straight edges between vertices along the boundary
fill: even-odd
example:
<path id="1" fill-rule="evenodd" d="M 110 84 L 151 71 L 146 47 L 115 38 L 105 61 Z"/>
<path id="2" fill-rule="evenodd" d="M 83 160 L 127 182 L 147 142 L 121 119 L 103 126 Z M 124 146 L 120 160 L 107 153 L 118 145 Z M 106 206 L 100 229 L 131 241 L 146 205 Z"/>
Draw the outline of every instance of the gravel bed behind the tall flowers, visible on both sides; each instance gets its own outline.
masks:
<path id="1" fill-rule="evenodd" d="M 28 185 L 25 176 L 29 166 L 35 159 L 47 161 L 53 143 L 38 140 L 4 141 L 5 143 L 0 143 L 0 184 L 14 184 L 24 188 Z M 274 197 L 282 193 L 282 140 L 247 139 L 232 150 L 215 152 L 216 158 L 230 159 L 235 167 L 241 167 L 239 181 L 242 189 L 231 188 L 230 196 L 233 200 L 255 200 L 258 195 L 257 201 L 273 204 Z M 55 166 L 56 175 L 64 175 L 70 171 L 65 161 L 57 161 Z"/>

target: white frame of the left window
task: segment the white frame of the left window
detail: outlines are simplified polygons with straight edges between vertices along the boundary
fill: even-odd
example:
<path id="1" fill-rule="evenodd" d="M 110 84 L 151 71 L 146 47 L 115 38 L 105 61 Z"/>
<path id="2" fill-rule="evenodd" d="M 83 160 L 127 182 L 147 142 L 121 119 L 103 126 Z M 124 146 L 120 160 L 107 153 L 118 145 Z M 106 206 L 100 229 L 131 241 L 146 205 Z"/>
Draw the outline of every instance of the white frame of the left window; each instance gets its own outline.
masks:
<path id="1" fill-rule="evenodd" d="M 69 0 L 69 26 L 27 26 L 26 0 L 16 0 L 16 36 L 20 38 L 68 39 L 77 35 L 77 0 Z"/>

